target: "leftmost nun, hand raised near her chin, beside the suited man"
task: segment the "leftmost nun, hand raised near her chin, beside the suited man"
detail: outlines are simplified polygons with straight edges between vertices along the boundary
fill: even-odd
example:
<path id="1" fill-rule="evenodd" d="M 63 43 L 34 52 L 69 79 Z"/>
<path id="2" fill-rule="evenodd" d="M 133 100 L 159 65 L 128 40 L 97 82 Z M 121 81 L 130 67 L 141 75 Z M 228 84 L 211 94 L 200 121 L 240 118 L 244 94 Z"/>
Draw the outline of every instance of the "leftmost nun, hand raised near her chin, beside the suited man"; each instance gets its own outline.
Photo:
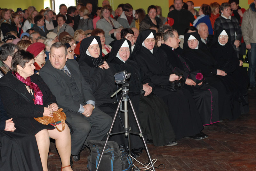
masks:
<path id="1" fill-rule="evenodd" d="M 112 118 L 115 115 L 118 103 L 116 98 L 110 96 L 116 91 L 114 81 L 115 70 L 102 58 L 101 43 L 99 36 L 90 36 L 81 41 L 80 58 L 78 64 L 86 82 L 91 85 L 95 97 L 96 106 Z M 117 116 L 112 133 L 123 131 L 124 115 Z M 132 131 L 138 132 L 136 121 L 129 115 L 129 123 Z M 124 134 L 112 135 L 110 141 L 116 141 L 123 150 L 126 144 Z M 137 135 L 130 134 L 131 149 L 143 148 L 142 139 Z M 127 149 L 127 148 L 126 148 Z M 134 153 L 134 152 L 133 152 Z M 138 154 L 134 155 L 139 157 Z"/>

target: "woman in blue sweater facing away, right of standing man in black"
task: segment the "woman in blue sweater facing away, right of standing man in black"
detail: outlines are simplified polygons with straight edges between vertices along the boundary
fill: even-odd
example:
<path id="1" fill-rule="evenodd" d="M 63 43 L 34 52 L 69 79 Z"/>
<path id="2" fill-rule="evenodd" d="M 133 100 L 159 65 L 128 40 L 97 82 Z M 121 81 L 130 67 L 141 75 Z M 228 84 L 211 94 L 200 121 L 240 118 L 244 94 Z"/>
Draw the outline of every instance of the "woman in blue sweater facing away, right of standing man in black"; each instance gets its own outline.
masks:
<path id="1" fill-rule="evenodd" d="M 207 4 L 203 4 L 200 7 L 198 13 L 200 16 L 195 19 L 193 26 L 196 27 L 199 23 L 205 23 L 208 26 L 209 34 L 212 35 L 213 29 L 212 29 L 212 24 L 211 24 L 211 20 L 210 20 L 211 7 Z"/>

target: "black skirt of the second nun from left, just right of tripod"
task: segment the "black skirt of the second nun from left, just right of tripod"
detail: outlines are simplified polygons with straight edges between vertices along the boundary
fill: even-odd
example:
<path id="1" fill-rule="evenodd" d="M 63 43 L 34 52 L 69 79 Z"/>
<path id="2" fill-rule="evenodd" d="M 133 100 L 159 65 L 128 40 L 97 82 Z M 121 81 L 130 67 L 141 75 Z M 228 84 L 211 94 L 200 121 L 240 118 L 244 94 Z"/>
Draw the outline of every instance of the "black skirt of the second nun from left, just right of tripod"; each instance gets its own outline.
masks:
<path id="1" fill-rule="evenodd" d="M 142 132 L 155 146 L 167 145 L 175 141 L 175 133 L 168 117 L 168 107 L 155 95 L 140 95 L 138 114 Z"/>

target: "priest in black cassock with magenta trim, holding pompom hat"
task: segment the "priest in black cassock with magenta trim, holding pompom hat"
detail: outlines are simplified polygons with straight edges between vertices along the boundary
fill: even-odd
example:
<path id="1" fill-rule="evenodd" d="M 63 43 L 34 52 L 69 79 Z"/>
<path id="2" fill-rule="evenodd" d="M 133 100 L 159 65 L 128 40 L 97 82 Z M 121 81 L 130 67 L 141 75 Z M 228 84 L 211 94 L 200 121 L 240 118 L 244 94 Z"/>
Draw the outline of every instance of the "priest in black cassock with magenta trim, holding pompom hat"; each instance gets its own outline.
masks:
<path id="1" fill-rule="evenodd" d="M 180 41 L 177 40 L 178 37 L 176 30 L 165 32 L 164 44 L 158 48 L 157 58 L 163 56 L 169 63 L 172 72 L 176 74 L 183 73 L 186 79 L 184 88 L 188 89 L 193 96 L 203 125 L 217 123 L 220 121 L 218 91 L 212 86 L 203 83 L 204 79 L 200 73 L 201 71 L 191 70 L 193 69 L 193 64 L 174 51 L 179 47 Z"/>

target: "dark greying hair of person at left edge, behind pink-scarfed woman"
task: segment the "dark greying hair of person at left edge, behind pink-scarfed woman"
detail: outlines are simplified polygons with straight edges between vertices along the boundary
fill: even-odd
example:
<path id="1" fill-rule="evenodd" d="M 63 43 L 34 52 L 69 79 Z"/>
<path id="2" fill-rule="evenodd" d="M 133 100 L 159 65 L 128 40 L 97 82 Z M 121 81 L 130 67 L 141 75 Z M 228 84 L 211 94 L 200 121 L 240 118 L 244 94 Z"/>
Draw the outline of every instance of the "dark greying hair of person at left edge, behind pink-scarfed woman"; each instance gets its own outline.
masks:
<path id="1" fill-rule="evenodd" d="M 0 60 L 6 61 L 8 56 L 13 56 L 15 49 L 19 50 L 19 47 L 13 43 L 4 43 L 1 46 Z"/>

